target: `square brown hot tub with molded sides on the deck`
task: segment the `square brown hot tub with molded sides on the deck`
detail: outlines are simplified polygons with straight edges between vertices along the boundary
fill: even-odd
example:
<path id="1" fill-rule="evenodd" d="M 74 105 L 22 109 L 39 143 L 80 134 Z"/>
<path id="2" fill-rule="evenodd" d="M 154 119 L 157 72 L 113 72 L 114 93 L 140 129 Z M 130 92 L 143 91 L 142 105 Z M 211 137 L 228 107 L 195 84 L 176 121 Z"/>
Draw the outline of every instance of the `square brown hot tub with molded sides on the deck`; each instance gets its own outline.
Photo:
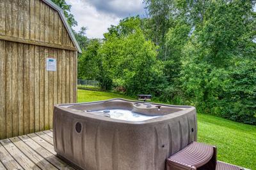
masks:
<path id="1" fill-rule="evenodd" d="M 111 99 L 54 107 L 54 150 L 82 169 L 165 169 L 196 132 L 192 106 Z"/>

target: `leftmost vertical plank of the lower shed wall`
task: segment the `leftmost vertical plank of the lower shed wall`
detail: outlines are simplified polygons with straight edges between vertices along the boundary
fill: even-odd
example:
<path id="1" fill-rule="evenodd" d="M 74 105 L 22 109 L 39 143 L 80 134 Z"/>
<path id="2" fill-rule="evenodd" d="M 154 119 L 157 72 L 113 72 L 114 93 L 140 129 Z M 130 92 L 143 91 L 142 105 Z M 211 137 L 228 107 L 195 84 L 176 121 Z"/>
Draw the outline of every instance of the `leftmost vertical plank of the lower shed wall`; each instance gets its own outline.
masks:
<path id="1" fill-rule="evenodd" d="M 5 65 L 6 65 L 6 53 L 5 53 L 5 41 L 0 40 L 0 53 L 3 57 L 0 57 L 0 139 L 6 138 L 6 103 L 5 103 Z"/>

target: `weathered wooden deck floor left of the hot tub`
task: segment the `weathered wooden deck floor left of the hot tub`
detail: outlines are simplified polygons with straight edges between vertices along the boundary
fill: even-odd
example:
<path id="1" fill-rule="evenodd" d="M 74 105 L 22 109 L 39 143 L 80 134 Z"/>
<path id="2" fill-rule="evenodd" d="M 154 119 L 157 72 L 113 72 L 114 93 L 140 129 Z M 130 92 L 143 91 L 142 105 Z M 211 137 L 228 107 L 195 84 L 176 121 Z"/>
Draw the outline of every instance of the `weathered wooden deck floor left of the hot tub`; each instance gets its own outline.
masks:
<path id="1" fill-rule="evenodd" d="M 74 169 L 56 157 L 52 131 L 0 141 L 0 169 Z"/>

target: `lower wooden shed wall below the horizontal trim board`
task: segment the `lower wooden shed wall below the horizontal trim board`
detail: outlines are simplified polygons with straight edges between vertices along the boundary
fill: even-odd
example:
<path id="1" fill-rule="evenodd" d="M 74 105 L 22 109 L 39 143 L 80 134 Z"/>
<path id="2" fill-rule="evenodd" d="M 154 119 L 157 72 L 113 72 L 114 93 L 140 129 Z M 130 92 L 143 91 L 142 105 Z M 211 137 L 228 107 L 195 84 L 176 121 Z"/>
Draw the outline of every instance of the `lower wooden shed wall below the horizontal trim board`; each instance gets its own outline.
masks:
<path id="1" fill-rule="evenodd" d="M 0 138 L 52 128 L 54 104 L 76 103 L 76 79 L 77 52 L 0 40 Z"/>

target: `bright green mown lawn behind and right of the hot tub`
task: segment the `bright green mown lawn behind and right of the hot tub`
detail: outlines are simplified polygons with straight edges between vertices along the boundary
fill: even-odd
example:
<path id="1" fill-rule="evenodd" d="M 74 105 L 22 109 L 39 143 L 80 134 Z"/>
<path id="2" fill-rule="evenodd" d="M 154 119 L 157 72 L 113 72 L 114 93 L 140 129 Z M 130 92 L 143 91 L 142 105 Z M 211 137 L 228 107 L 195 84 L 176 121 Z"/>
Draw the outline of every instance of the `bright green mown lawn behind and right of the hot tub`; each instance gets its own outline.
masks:
<path id="1" fill-rule="evenodd" d="M 78 102 L 134 99 L 111 92 L 78 90 Z M 256 170 L 256 126 L 197 114 L 198 141 L 217 146 L 218 160 Z"/>

